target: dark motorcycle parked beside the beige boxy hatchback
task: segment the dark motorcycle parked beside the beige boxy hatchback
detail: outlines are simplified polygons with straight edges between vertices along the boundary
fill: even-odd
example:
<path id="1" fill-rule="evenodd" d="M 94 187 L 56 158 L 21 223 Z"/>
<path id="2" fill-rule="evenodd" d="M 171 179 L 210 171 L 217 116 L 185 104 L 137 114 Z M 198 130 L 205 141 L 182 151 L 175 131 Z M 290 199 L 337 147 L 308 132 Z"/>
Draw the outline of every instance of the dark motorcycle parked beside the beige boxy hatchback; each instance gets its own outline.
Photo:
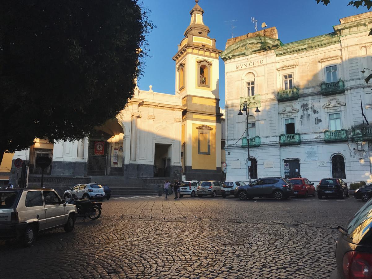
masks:
<path id="1" fill-rule="evenodd" d="M 102 203 L 92 202 L 90 199 L 79 199 L 76 196 L 67 196 L 67 204 L 76 205 L 77 214 L 90 220 L 97 220 L 101 216 Z"/>

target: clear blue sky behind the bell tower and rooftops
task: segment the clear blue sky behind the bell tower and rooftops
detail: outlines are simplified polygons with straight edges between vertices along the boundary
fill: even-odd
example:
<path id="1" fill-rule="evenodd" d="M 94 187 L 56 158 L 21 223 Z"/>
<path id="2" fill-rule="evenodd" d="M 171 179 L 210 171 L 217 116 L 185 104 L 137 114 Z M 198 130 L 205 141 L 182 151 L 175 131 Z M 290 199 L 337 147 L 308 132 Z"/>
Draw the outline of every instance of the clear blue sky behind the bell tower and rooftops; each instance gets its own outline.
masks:
<path id="1" fill-rule="evenodd" d="M 138 80 L 142 90 L 153 86 L 153 91 L 174 94 L 175 62 L 177 45 L 184 38 L 183 33 L 190 23 L 190 10 L 195 0 L 142 0 L 144 7 L 151 10 L 150 19 L 156 28 L 147 36 L 149 55 L 144 61 L 143 76 Z M 283 43 L 327 34 L 339 19 L 358 13 L 368 12 L 365 7 L 346 6 L 349 0 L 331 0 L 328 6 L 315 0 L 199 0 L 205 11 L 204 23 L 209 26 L 209 37 L 217 40 L 216 46 L 225 49 L 231 38 L 231 23 L 234 22 L 234 37 L 254 32 L 251 17 L 258 21 L 257 27 L 266 22 L 267 27 L 276 26 L 279 39 Z M 225 104 L 224 63 L 219 63 L 220 107 Z"/>

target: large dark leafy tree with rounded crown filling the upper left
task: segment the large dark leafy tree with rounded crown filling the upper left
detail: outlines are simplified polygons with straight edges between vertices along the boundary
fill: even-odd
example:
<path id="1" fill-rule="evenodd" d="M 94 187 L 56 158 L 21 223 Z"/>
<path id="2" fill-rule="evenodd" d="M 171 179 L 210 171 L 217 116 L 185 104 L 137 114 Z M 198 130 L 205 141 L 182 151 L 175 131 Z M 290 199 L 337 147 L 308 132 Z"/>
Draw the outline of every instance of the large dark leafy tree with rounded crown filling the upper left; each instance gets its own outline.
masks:
<path id="1" fill-rule="evenodd" d="M 125 107 L 153 28 L 137 2 L 0 1 L 0 162 L 35 138 L 88 136 Z"/>

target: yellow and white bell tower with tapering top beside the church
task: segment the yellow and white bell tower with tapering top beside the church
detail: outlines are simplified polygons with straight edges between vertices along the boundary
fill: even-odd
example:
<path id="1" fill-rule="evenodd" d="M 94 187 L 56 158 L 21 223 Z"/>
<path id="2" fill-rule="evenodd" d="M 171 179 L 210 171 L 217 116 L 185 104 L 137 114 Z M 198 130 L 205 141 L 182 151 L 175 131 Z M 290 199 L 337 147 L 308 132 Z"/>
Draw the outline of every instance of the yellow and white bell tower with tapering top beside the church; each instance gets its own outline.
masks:
<path id="1" fill-rule="evenodd" d="M 195 0 L 190 25 L 173 57 L 176 94 L 187 109 L 182 117 L 183 172 L 186 179 L 218 180 L 221 172 L 221 116 L 218 58 L 221 50 L 208 36 L 204 10 Z"/>

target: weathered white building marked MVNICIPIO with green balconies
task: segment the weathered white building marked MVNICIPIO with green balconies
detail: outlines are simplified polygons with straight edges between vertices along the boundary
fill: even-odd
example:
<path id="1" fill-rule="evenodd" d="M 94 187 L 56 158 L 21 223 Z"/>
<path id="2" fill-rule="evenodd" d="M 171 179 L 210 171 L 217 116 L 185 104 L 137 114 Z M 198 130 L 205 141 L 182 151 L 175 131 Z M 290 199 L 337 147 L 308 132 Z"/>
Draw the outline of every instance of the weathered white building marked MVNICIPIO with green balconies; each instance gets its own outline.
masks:
<path id="1" fill-rule="evenodd" d="M 361 72 L 372 69 L 371 28 L 368 12 L 287 44 L 275 27 L 227 41 L 227 179 L 248 180 L 245 111 L 238 115 L 247 101 L 252 179 L 371 181 L 372 82 L 364 82 L 370 71 Z"/>

